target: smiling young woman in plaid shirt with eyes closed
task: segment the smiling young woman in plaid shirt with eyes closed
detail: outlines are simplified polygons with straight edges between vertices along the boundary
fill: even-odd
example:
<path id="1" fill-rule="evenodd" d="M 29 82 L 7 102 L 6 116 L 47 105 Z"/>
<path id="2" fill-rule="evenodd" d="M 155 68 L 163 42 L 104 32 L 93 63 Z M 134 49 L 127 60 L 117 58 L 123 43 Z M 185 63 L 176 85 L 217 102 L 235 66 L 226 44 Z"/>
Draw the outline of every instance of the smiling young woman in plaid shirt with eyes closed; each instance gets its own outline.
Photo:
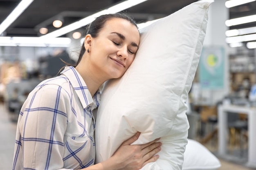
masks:
<path id="1" fill-rule="evenodd" d="M 139 46 L 139 31 L 127 15 L 102 15 L 88 27 L 76 66 L 40 83 L 18 118 L 13 170 L 138 170 L 156 161 L 161 143 L 125 141 L 108 160 L 94 165 L 99 88 L 124 75 Z"/>

